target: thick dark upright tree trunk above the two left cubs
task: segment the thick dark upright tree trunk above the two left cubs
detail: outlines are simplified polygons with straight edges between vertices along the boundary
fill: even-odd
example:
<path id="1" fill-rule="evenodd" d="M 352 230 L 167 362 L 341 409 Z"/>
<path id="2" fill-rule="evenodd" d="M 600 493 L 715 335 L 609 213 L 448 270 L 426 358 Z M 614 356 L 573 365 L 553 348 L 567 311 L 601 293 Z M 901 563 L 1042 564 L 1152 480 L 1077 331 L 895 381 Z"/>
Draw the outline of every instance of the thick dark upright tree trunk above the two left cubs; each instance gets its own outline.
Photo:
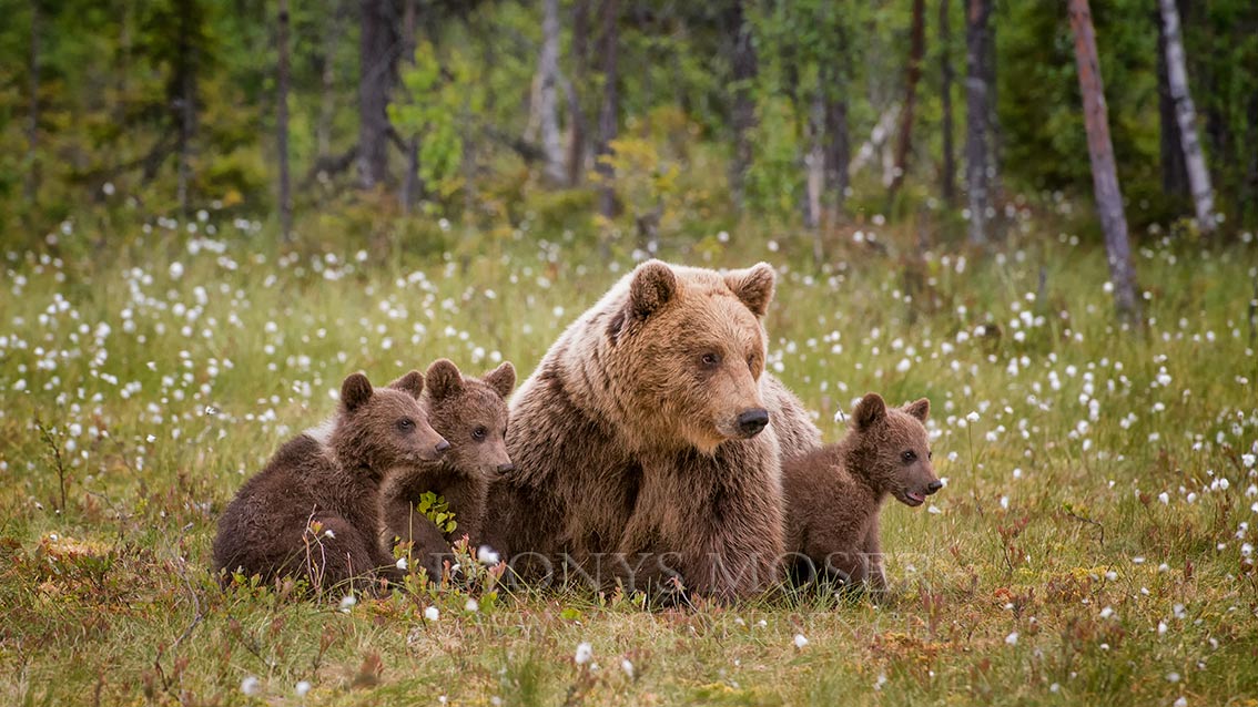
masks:
<path id="1" fill-rule="evenodd" d="M 392 0 L 360 0 L 359 187 L 389 178 L 389 94 L 398 78 L 398 11 Z"/>

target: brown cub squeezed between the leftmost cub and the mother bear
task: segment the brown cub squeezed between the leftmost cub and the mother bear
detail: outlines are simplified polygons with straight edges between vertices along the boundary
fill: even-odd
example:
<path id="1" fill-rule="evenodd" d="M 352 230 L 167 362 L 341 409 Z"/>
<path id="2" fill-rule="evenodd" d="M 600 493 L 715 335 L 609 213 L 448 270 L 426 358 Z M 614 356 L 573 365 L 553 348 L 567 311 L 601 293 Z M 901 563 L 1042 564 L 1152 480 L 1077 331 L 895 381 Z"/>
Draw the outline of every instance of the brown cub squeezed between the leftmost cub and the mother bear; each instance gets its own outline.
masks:
<path id="1" fill-rule="evenodd" d="M 410 542 L 410 558 L 421 563 L 429 579 L 440 580 L 450 542 L 464 535 L 473 546 L 481 540 L 489 480 L 512 468 L 506 441 L 507 397 L 516 386 L 516 369 L 503 363 L 481 379 L 464 378 L 443 358 L 428 367 L 424 378 L 420 406 L 450 448 L 440 460 L 416 465 L 384 482 L 381 541 L 390 554 L 396 541 Z M 425 492 L 445 500 L 457 524 L 452 532 L 415 511 Z"/>

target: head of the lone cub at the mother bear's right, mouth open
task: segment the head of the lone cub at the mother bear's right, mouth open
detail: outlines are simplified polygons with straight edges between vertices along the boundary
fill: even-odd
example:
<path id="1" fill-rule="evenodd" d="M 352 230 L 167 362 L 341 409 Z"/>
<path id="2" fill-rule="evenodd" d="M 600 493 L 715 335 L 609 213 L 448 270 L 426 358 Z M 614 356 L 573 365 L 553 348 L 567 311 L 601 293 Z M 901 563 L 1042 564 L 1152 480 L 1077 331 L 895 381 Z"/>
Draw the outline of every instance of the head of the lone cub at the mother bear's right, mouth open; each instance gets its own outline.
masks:
<path id="1" fill-rule="evenodd" d="M 858 461 L 849 471 L 905 505 L 925 504 L 926 496 L 944 487 L 931 466 L 930 436 L 923 424 L 930 413 L 926 398 L 901 408 L 888 408 L 877 393 L 860 398 L 852 416 Z"/>

